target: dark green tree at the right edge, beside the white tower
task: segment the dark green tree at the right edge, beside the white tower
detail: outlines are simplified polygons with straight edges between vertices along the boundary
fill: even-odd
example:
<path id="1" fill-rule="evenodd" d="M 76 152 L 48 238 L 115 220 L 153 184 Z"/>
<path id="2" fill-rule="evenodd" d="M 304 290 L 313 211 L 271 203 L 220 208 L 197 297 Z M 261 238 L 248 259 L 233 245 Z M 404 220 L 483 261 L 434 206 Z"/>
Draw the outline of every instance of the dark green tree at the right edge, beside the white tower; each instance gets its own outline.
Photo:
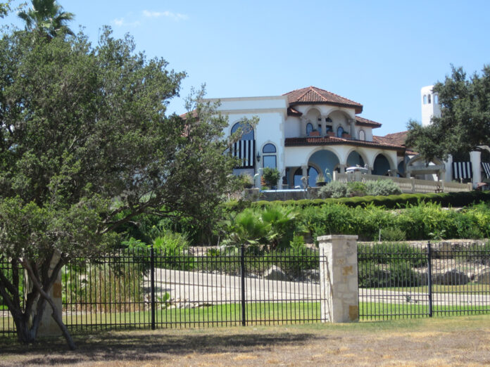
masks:
<path id="1" fill-rule="evenodd" d="M 479 150 L 490 143 L 490 65 L 482 73 L 467 77 L 461 67 L 452 67 L 451 76 L 434 85 L 439 95 L 441 117 L 422 127 L 408 122 L 406 146 L 422 154 L 427 161 L 434 157 Z"/>

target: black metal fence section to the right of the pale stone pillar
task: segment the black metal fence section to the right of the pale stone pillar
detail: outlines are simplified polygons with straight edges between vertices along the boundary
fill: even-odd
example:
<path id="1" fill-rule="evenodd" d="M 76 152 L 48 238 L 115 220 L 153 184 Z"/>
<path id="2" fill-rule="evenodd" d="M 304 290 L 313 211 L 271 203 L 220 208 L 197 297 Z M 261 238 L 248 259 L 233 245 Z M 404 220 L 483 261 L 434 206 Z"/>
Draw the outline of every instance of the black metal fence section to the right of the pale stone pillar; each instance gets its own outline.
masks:
<path id="1" fill-rule="evenodd" d="M 490 313 L 490 243 L 358 246 L 359 317 Z"/>

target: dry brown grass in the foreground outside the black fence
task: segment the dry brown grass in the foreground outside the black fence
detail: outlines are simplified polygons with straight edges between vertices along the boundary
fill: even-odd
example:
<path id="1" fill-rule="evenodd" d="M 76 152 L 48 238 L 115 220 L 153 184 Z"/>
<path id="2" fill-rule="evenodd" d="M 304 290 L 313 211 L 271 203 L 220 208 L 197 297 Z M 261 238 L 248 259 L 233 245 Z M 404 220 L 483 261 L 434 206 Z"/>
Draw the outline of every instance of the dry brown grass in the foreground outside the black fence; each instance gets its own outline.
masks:
<path id="1" fill-rule="evenodd" d="M 0 339 L 0 365 L 479 366 L 490 363 L 490 316 L 344 325 L 132 330 L 23 347 Z"/>

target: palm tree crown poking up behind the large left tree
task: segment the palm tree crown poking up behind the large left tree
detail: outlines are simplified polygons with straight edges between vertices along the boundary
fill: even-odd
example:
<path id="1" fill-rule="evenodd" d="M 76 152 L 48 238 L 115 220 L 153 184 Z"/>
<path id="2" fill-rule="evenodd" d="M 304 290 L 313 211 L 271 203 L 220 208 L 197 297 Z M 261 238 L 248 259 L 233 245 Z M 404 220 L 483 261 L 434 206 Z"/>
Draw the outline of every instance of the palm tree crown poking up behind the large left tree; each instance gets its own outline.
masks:
<path id="1" fill-rule="evenodd" d="M 18 17 L 25 21 L 27 30 L 38 30 L 46 34 L 49 39 L 58 34 L 72 34 L 66 25 L 75 15 L 63 11 L 56 0 L 31 0 L 32 7 L 27 11 L 20 11 Z"/>

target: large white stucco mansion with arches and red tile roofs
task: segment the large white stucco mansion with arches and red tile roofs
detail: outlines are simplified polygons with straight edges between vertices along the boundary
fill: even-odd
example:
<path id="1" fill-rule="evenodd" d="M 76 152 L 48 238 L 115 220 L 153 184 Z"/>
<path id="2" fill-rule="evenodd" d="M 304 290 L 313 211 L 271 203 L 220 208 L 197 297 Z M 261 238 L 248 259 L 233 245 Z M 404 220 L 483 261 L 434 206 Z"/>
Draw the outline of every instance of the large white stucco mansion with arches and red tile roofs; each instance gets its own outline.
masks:
<path id="1" fill-rule="evenodd" d="M 315 86 L 282 96 L 220 98 L 220 103 L 218 110 L 229 117 L 227 134 L 243 126 L 244 117 L 259 118 L 234 146 L 232 153 L 241 158 L 235 174 L 253 176 L 261 167 L 275 167 L 282 173 L 279 188 L 301 186 L 302 176 L 309 176 L 309 186 L 315 186 L 325 169 L 343 173 L 353 166 L 380 176 L 458 179 L 446 162 L 427 166 L 420 161 L 403 145 L 405 132 L 375 136 L 373 129 L 381 124 L 359 116 L 363 105 Z M 422 113 L 424 108 L 427 101 L 422 101 Z"/>

